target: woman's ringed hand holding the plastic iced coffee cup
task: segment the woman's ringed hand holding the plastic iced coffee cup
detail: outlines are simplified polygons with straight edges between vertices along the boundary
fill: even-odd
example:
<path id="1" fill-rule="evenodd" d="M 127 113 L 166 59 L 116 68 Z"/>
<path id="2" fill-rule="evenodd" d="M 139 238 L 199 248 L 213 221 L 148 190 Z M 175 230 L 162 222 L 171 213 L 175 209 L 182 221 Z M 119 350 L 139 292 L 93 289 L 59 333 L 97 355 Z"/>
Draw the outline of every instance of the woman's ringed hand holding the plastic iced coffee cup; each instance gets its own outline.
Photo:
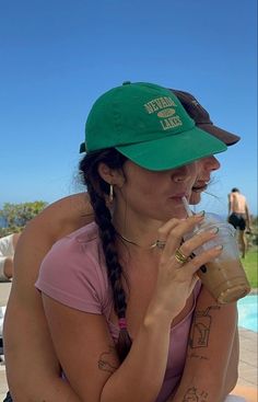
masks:
<path id="1" fill-rule="evenodd" d="M 159 230 L 159 240 L 165 242 L 165 246 L 159 251 L 161 256 L 154 297 L 161 311 L 167 314 L 169 320 L 173 320 L 185 307 L 198 280 L 196 272 L 200 266 L 220 255 L 222 251 L 222 248 L 213 248 L 189 259 L 197 248 L 216 236 L 216 232 L 202 231 L 181 243 L 186 233 L 192 232 L 202 219 L 201 215 L 186 220 L 171 219 Z M 178 261 L 178 250 L 186 257 L 186 261 Z"/>

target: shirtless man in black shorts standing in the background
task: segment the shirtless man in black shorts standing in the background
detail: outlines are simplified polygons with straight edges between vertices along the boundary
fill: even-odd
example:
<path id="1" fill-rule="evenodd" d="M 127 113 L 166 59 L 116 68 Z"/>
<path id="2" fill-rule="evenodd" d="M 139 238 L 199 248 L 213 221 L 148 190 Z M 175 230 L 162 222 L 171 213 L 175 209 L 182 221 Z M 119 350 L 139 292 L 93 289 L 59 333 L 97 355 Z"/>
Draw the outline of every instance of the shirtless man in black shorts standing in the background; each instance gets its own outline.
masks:
<path id="1" fill-rule="evenodd" d="M 228 222 L 235 229 L 239 229 L 239 243 L 242 257 L 245 259 L 247 252 L 246 229 L 250 231 L 250 214 L 246 197 L 241 194 L 238 188 L 232 188 L 228 195 Z"/>

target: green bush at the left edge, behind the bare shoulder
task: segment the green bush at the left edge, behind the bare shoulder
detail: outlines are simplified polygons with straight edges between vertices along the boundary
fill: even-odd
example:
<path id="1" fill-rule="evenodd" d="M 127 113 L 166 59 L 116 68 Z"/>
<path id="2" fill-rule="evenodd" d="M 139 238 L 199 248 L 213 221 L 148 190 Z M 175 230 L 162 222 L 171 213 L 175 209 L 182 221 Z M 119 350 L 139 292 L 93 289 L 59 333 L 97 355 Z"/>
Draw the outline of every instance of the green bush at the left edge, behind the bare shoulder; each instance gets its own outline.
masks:
<path id="1" fill-rule="evenodd" d="M 3 204 L 0 209 L 0 218 L 2 221 L 0 236 L 20 232 L 23 230 L 28 220 L 33 219 L 42 209 L 47 206 L 43 200 L 22 204 Z"/>

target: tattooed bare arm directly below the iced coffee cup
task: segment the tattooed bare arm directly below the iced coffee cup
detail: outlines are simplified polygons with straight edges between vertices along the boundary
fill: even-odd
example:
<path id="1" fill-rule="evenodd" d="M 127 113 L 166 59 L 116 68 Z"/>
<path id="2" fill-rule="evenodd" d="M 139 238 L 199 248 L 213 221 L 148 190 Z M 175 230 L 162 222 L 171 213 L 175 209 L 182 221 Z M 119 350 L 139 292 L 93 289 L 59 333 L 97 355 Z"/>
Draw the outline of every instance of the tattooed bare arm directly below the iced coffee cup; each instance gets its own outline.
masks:
<path id="1" fill-rule="evenodd" d="M 223 402 L 237 380 L 235 303 L 220 306 L 202 288 L 194 317 L 188 357 L 173 402 L 202 398 Z"/>

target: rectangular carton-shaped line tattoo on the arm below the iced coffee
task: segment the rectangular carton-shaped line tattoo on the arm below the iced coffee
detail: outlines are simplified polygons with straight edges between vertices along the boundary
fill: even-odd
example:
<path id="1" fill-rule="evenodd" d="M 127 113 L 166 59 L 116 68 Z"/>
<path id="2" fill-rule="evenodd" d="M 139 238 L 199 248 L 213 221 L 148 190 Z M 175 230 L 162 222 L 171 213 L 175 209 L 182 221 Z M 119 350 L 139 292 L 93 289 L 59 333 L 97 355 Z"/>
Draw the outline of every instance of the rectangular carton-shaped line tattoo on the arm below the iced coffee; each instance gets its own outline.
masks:
<path id="1" fill-rule="evenodd" d="M 196 311 L 189 336 L 189 346 L 191 348 L 208 346 L 212 323 L 212 317 L 209 312 L 212 309 L 218 310 L 220 306 L 210 306 L 206 311 Z"/>

